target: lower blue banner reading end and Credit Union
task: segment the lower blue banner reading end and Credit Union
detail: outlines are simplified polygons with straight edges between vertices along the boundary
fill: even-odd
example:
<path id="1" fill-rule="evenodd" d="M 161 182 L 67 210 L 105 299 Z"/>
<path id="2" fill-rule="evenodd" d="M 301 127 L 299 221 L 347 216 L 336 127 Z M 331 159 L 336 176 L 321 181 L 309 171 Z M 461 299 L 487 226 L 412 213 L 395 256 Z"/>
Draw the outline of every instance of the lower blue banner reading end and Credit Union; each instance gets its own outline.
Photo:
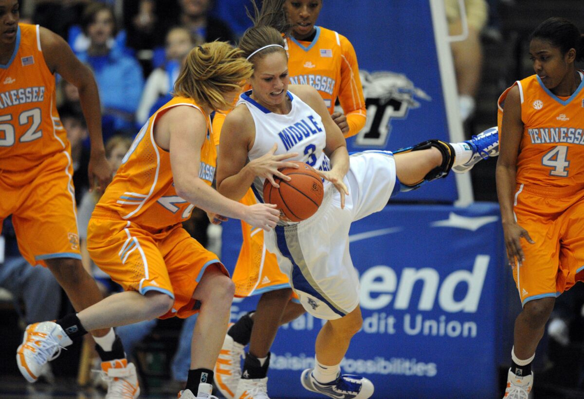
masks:
<path id="1" fill-rule="evenodd" d="M 240 237 L 238 222 L 225 223 L 228 267 Z M 496 397 L 509 278 L 498 205 L 388 205 L 353 223 L 350 241 L 363 328 L 343 372 L 369 378 L 380 399 Z M 232 321 L 257 300 L 234 301 Z M 304 390 L 300 374 L 314 364 L 321 326 L 304 314 L 280 329 L 268 374 L 271 397 L 318 397 Z"/>

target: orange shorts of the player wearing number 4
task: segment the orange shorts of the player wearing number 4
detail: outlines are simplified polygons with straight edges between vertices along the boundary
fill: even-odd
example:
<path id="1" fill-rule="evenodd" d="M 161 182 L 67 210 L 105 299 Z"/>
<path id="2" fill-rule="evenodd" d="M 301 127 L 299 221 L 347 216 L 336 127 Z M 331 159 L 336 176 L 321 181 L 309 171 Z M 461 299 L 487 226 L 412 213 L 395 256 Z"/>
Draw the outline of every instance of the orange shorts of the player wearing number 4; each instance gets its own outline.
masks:
<path id="1" fill-rule="evenodd" d="M 517 223 L 535 241 L 522 239 L 525 260 L 513 267 L 522 305 L 558 297 L 584 280 L 584 191 L 523 184 L 515 198 Z"/>

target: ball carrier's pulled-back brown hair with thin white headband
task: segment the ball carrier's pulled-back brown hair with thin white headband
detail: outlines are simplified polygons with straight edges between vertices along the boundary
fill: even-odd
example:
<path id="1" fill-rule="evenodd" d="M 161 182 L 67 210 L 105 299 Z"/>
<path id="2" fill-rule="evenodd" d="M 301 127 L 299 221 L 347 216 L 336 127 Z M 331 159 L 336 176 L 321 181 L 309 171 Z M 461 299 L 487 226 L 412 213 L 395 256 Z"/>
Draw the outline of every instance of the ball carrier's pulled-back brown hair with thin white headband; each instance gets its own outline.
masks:
<path id="1" fill-rule="evenodd" d="M 289 33 L 291 25 L 287 22 L 284 0 L 263 0 L 261 9 L 252 0 L 252 8 L 253 15 L 248 9 L 248 16 L 253 26 L 239 40 L 239 48 L 244 52 L 244 57 L 253 63 L 256 57 L 276 51 L 285 53 L 282 34 Z"/>

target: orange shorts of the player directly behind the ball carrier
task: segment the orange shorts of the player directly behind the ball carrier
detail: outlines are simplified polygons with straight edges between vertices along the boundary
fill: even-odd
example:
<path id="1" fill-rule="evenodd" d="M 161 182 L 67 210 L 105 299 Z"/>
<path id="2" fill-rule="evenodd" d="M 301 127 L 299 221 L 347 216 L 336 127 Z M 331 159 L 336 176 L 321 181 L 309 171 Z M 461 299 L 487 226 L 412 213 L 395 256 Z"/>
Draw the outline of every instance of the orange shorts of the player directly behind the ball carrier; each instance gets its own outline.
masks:
<path id="1" fill-rule="evenodd" d="M 245 205 L 258 203 L 252 190 L 249 190 L 240 202 Z M 290 280 L 280 271 L 276 255 L 266 250 L 263 230 L 254 229 L 242 221 L 241 232 L 244 242 L 241 245 L 232 277 L 235 283 L 235 296 L 244 298 L 267 291 L 290 288 Z M 296 294 L 293 294 L 293 298 L 298 300 Z"/>

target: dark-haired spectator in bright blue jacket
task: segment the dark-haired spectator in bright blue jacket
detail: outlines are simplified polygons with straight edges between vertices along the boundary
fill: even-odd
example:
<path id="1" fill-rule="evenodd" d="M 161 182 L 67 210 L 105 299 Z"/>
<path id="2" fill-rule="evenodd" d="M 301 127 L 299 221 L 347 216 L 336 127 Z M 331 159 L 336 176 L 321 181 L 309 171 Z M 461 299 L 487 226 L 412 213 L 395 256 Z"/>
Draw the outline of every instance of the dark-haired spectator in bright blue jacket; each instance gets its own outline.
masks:
<path id="1" fill-rule="evenodd" d="M 111 135 L 108 129 L 134 133 L 135 112 L 144 86 L 142 68 L 119 47 L 110 47 L 117 27 L 109 6 L 102 3 L 88 5 L 81 26 L 90 44 L 87 51 L 78 54 L 78 58 L 92 68 L 98 82 L 104 137 Z"/>

